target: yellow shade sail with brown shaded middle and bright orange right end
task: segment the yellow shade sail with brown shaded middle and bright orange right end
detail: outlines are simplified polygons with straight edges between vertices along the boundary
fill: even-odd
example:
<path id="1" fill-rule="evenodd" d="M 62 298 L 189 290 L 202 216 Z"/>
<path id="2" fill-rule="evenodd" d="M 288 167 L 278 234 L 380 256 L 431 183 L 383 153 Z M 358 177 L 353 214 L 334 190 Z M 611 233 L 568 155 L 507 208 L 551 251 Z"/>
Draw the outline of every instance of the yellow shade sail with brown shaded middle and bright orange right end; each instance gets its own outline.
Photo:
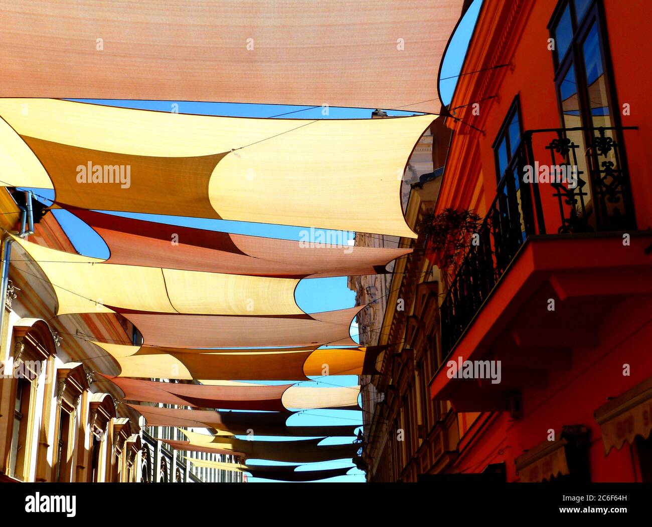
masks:
<path id="1" fill-rule="evenodd" d="M 361 375 L 364 348 L 187 349 L 93 342 L 120 367 L 119 377 L 181 380 L 307 380 L 308 376 Z"/>

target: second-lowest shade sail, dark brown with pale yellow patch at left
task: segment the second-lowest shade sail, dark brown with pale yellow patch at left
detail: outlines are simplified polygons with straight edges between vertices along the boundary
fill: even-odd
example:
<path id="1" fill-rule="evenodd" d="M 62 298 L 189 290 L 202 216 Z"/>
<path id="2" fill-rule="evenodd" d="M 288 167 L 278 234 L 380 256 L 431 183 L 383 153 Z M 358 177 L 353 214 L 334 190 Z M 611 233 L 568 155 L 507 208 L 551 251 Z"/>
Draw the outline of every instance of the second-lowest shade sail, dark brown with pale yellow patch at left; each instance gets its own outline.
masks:
<path id="1" fill-rule="evenodd" d="M 302 439 L 296 441 L 247 441 L 233 438 L 213 437 L 203 434 L 188 433 L 186 441 L 163 440 L 179 450 L 193 450 L 207 453 L 218 451 L 239 455 L 243 459 L 266 459 L 269 461 L 284 461 L 288 463 L 318 463 L 319 461 L 334 461 L 335 459 L 351 459 L 359 444 L 346 443 L 342 445 L 323 445 L 323 438 Z M 203 437 L 201 437 L 203 436 Z"/>

